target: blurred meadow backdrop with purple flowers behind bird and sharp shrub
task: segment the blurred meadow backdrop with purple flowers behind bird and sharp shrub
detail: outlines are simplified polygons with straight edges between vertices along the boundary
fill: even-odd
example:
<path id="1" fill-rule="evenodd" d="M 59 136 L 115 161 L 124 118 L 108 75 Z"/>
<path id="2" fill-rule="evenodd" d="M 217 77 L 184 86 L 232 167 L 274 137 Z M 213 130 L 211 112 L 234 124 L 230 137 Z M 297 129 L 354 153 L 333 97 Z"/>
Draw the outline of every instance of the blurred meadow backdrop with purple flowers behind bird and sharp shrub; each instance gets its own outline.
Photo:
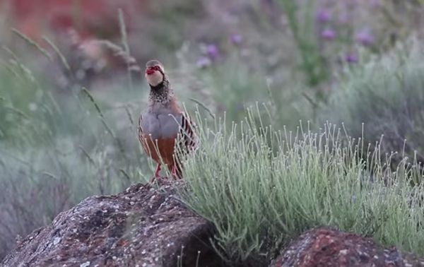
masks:
<path id="1" fill-rule="evenodd" d="M 148 59 L 205 119 L 343 121 L 420 158 L 423 13 L 422 0 L 0 0 L 0 259 L 83 198 L 150 178 L 136 133 Z"/>

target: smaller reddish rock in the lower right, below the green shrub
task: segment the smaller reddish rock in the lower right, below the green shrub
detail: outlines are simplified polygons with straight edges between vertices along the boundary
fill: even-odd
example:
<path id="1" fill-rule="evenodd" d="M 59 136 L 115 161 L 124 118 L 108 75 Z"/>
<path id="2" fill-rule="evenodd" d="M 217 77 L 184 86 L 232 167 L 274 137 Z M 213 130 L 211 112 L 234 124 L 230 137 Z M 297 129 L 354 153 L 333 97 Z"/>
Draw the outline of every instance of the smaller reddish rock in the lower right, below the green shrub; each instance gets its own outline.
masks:
<path id="1" fill-rule="evenodd" d="M 302 234 L 271 266 L 416 267 L 424 266 L 424 259 L 401 253 L 396 248 L 384 249 L 370 238 L 319 228 Z"/>

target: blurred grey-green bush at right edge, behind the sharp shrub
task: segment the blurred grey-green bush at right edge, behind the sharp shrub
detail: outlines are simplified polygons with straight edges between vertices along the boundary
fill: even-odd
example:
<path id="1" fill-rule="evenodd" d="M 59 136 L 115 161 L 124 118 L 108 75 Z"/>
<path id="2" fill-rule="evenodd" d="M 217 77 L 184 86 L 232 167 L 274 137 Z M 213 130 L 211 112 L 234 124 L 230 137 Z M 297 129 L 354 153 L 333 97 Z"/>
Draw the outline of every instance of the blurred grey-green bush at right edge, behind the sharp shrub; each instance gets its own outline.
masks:
<path id="1" fill-rule="evenodd" d="M 384 57 L 346 70 L 321 114 L 322 121 L 343 123 L 352 136 L 365 138 L 366 143 L 384 140 L 382 153 L 398 153 L 393 162 L 404 157 L 424 162 L 423 58 L 423 47 L 411 40 Z"/>

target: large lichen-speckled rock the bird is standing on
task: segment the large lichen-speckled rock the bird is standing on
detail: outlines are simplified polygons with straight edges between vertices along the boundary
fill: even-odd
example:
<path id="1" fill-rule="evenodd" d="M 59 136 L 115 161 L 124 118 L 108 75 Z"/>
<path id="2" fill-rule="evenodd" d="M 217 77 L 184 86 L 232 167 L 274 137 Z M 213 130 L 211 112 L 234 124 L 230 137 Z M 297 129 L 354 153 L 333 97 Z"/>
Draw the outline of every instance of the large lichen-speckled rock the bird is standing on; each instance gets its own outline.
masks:
<path id="1" fill-rule="evenodd" d="M 212 236 L 212 225 L 179 203 L 175 187 L 136 184 L 60 213 L 2 266 L 220 266 Z"/>

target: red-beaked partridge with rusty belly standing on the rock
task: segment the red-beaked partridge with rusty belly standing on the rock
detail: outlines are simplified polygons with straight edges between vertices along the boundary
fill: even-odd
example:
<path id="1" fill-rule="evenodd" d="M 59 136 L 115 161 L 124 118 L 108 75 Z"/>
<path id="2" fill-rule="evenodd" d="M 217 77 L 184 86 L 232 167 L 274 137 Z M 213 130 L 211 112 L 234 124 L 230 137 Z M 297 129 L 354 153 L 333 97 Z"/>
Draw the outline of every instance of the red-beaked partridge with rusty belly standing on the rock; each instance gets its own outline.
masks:
<path id="1" fill-rule="evenodd" d="M 148 105 L 139 117 L 138 130 L 141 146 L 157 163 L 150 182 L 160 178 L 162 163 L 174 179 L 182 179 L 180 157 L 193 153 L 199 146 L 196 124 L 179 106 L 160 61 L 147 61 L 145 77 L 150 93 Z"/>

